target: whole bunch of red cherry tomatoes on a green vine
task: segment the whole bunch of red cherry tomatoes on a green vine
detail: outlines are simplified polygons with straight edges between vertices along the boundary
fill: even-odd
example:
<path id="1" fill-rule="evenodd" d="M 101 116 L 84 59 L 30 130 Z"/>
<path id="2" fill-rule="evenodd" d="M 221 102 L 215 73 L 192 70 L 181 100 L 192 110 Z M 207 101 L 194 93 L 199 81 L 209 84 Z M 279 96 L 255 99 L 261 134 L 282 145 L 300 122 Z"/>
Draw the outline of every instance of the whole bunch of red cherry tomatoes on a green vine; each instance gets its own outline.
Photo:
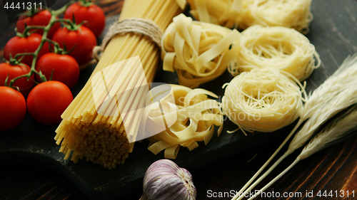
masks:
<path id="1" fill-rule="evenodd" d="M 62 9 L 63 19 L 49 9 L 19 17 L 16 36 L 6 43 L 0 63 L 0 131 L 19 126 L 27 110 L 36 121 L 56 125 L 73 100 L 70 89 L 79 66 L 92 60 L 105 16 L 86 0 Z"/>

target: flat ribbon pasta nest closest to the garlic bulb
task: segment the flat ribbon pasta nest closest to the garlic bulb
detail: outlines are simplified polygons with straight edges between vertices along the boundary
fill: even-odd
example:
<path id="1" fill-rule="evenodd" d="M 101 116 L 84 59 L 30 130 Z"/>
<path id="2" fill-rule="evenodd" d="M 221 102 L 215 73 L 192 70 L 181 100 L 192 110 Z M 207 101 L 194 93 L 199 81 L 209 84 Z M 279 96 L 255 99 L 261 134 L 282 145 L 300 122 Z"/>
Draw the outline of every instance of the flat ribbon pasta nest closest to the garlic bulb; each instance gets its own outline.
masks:
<path id="1" fill-rule="evenodd" d="M 181 85 L 171 87 L 175 105 L 166 106 L 168 110 L 164 116 L 166 122 L 173 116 L 177 118 L 166 130 L 149 137 L 149 150 L 158 154 L 165 149 L 165 157 L 175 159 L 180 147 L 187 147 L 191 151 L 198 147 L 197 142 L 204 141 L 207 144 L 213 137 L 215 125 L 220 126 L 219 136 L 223 128 L 223 116 L 218 102 L 208 98 L 208 95 L 218 98 L 214 93 Z"/>

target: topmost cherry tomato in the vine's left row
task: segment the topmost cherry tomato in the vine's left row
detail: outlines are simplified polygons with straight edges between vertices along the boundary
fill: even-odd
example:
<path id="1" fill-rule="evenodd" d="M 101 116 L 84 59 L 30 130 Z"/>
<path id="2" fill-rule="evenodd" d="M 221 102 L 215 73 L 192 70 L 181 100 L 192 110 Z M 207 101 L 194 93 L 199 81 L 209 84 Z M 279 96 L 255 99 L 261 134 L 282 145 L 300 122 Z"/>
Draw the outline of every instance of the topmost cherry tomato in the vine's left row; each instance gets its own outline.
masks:
<path id="1" fill-rule="evenodd" d="M 16 22 L 16 28 L 19 33 L 23 33 L 25 29 L 25 23 L 27 26 L 47 26 L 50 20 L 51 13 L 47 10 L 44 10 L 31 17 L 20 16 L 18 21 Z M 59 22 L 54 23 L 54 26 L 49 29 L 47 38 L 52 38 L 54 32 L 56 32 L 59 28 L 61 28 L 61 24 Z M 40 35 L 42 35 L 44 31 L 42 29 L 36 29 L 35 33 L 39 33 Z"/>

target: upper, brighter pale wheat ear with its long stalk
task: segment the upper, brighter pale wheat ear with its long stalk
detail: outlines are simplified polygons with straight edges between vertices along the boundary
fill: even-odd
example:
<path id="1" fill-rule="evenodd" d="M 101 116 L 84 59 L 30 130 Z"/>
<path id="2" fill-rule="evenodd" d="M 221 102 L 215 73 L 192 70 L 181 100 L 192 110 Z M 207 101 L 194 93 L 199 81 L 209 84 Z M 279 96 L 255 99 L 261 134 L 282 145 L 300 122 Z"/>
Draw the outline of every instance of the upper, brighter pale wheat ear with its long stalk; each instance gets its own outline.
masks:
<path id="1" fill-rule="evenodd" d="M 283 143 L 276 149 L 271 157 L 266 161 L 261 169 L 256 172 L 256 174 L 251 177 L 251 179 L 241 188 L 240 191 L 233 196 L 232 200 L 243 199 L 243 191 L 250 191 L 256 184 L 263 180 L 285 157 L 291 154 L 295 149 L 301 147 L 307 140 L 311 138 L 313 133 L 318 127 L 320 127 L 323 122 L 336 115 L 338 111 L 345 109 L 346 107 L 356 103 L 357 100 L 357 88 L 348 88 L 348 84 L 353 84 L 356 82 L 355 77 L 357 76 L 357 54 L 353 56 L 348 56 L 341 66 L 333 73 L 329 78 L 327 78 L 313 93 L 308 95 L 308 100 L 303 107 L 303 112 L 298 120 L 298 123 L 289 133 Z M 351 101 L 348 101 L 346 96 L 351 97 Z M 308 120 L 309 119 L 309 120 Z M 274 163 L 268 171 L 261 176 L 254 184 L 251 183 L 258 177 L 261 172 L 268 166 L 268 164 L 273 160 L 273 158 L 280 152 L 281 148 L 288 142 L 291 136 L 296 132 L 297 128 L 302 124 L 303 121 L 308 120 L 303 129 L 301 129 L 297 136 L 294 137 L 293 143 L 289 146 L 288 151 L 281 156 L 280 159 Z M 248 189 L 246 189 L 251 185 Z"/>

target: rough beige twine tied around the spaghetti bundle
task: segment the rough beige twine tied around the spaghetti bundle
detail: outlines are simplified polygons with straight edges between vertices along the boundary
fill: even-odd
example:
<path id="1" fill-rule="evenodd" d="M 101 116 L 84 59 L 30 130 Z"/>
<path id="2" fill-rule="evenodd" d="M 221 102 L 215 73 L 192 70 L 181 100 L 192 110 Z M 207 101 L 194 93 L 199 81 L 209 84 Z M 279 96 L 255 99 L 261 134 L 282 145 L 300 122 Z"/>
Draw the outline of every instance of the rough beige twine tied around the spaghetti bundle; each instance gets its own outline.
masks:
<path id="1" fill-rule="evenodd" d="M 111 25 L 108 33 L 104 36 L 101 46 L 95 46 L 93 48 L 93 57 L 96 58 L 96 60 L 99 60 L 109 41 L 111 41 L 111 38 L 124 33 L 138 33 L 144 35 L 156 43 L 157 46 L 161 47 L 161 37 L 163 32 L 161 31 L 161 28 L 154 23 L 154 21 L 148 19 L 129 18 Z"/>

